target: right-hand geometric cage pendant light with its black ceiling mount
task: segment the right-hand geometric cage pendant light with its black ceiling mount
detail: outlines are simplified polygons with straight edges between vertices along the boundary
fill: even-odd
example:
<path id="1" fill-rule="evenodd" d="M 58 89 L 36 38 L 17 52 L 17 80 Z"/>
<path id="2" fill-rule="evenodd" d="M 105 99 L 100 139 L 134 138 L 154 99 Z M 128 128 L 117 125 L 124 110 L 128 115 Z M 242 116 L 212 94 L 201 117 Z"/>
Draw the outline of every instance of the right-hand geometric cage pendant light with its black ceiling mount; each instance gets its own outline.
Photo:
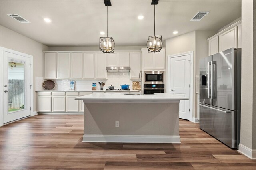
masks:
<path id="1" fill-rule="evenodd" d="M 151 5 L 154 5 L 154 36 L 148 36 L 148 52 L 160 52 L 163 46 L 162 36 L 155 36 L 156 30 L 156 5 L 158 4 L 158 0 L 152 0 Z"/>

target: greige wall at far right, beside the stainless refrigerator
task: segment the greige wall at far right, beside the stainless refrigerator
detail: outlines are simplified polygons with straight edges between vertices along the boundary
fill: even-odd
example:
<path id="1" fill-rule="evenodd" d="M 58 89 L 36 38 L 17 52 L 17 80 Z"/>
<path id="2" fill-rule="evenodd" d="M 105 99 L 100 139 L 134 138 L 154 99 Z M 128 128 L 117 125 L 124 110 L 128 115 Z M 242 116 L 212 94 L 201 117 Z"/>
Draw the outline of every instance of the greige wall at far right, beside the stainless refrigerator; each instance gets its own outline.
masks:
<path id="1" fill-rule="evenodd" d="M 255 8 L 255 1 L 242 1 L 241 144 L 251 149 L 256 149 Z"/>

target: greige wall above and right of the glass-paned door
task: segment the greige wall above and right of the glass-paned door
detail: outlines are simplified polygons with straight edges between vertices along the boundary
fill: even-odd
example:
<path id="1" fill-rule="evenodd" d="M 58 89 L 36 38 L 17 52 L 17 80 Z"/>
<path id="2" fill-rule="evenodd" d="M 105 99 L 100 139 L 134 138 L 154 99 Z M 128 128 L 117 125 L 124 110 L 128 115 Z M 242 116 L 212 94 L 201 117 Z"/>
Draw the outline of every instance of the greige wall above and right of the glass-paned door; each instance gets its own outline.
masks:
<path id="1" fill-rule="evenodd" d="M 0 26 L 0 46 L 14 51 L 19 51 L 33 56 L 33 93 L 34 93 L 34 111 L 36 111 L 36 92 L 35 77 L 43 77 L 43 52 L 48 47 L 36 42 L 26 36 L 14 32 L 4 26 Z"/>

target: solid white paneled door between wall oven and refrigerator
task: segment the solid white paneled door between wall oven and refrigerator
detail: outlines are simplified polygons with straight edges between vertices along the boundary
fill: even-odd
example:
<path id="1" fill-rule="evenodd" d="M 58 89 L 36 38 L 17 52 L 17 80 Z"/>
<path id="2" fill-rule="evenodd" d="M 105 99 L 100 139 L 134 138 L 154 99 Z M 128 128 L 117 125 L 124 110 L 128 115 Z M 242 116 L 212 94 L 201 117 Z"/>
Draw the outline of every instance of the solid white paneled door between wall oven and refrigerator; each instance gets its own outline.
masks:
<path id="1" fill-rule="evenodd" d="M 190 98 L 190 55 L 170 59 L 170 93 Z M 189 100 L 180 101 L 180 118 L 190 120 Z"/>

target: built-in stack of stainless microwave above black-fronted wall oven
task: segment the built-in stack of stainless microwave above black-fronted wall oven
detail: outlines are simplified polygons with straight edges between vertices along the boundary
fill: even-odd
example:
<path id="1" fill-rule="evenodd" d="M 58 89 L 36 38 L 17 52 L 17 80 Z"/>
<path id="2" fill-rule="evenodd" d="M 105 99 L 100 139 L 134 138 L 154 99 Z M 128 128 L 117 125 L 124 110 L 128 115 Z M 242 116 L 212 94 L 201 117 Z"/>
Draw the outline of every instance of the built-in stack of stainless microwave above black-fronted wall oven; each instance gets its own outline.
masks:
<path id="1" fill-rule="evenodd" d="M 164 71 L 144 71 L 144 94 L 164 93 Z"/>

